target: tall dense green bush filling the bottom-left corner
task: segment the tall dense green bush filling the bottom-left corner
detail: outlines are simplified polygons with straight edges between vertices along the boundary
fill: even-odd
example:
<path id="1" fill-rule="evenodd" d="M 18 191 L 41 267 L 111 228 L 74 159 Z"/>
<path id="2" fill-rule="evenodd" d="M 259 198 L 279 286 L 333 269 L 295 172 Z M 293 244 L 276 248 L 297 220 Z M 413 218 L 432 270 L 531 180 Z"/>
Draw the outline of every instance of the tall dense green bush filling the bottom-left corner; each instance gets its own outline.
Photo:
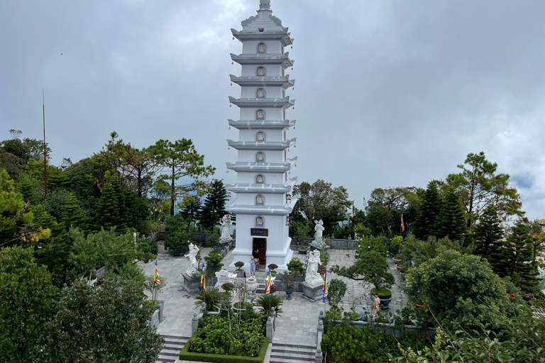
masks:
<path id="1" fill-rule="evenodd" d="M 55 313 L 58 289 L 31 249 L 0 250 L 0 361 L 41 361 L 45 323 Z"/>

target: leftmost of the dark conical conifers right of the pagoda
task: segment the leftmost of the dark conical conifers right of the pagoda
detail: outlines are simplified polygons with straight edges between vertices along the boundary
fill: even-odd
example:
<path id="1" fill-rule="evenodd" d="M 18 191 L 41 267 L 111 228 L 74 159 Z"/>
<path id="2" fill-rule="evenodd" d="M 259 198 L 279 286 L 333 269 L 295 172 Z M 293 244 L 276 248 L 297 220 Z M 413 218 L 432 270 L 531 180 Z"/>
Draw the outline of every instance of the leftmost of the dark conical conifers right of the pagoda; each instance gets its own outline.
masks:
<path id="1" fill-rule="evenodd" d="M 426 239 L 430 235 L 435 235 L 435 220 L 441 213 L 441 195 L 437 188 L 437 181 L 430 181 L 424 194 L 424 203 L 422 210 L 417 215 L 414 222 L 414 235 L 420 239 Z"/>

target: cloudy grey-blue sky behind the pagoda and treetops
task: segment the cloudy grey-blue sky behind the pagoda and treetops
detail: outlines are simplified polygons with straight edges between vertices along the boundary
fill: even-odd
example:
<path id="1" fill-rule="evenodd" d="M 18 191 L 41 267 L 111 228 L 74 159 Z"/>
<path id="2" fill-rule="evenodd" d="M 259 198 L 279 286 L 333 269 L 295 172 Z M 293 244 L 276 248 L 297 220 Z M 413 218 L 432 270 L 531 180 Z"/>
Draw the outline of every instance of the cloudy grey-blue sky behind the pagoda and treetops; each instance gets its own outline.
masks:
<path id="1" fill-rule="evenodd" d="M 42 138 L 53 164 L 111 131 L 147 147 L 190 138 L 216 178 L 236 162 L 231 28 L 258 0 L 0 1 L 0 140 Z M 545 217 L 545 1 L 272 0 L 294 38 L 299 181 L 363 207 L 375 188 L 426 187 L 484 151 L 530 219 Z"/>

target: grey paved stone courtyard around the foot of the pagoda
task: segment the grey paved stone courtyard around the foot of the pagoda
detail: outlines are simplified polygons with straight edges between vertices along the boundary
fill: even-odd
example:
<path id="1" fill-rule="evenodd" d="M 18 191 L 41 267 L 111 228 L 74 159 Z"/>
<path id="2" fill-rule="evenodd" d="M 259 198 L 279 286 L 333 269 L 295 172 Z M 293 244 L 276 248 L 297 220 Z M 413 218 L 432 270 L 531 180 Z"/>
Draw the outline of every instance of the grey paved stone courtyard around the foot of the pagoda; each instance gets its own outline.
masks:
<path id="1" fill-rule="evenodd" d="M 208 255 L 210 248 L 202 247 L 202 257 Z M 329 266 L 338 264 L 340 266 L 349 267 L 355 262 L 355 251 L 353 250 L 328 250 L 331 255 Z M 306 258 L 306 255 L 294 254 L 294 257 Z M 191 336 L 191 320 L 193 313 L 198 312 L 198 308 L 194 306 L 194 294 L 188 294 L 182 288 L 184 279 L 182 272 L 185 272 L 189 267 L 189 259 L 182 256 L 172 256 L 170 252 L 165 252 L 163 242 L 160 242 L 158 253 L 159 274 L 165 287 L 161 290 L 158 298 L 165 301 L 163 311 L 163 322 L 158 325 L 158 333 L 162 335 L 177 335 Z M 233 255 L 229 252 L 224 257 L 224 266 L 229 266 L 233 261 Z M 395 269 L 391 259 L 388 259 L 390 272 L 394 275 L 396 283 L 400 282 L 400 274 Z M 155 269 L 155 261 L 150 261 L 147 264 L 138 262 L 138 266 L 142 267 L 145 274 L 153 276 Z M 265 277 L 263 269 L 256 272 L 258 279 Z M 371 286 L 364 285 L 361 282 L 346 279 L 345 277 L 337 277 L 333 273 L 328 272 L 328 279 L 342 279 L 346 281 L 346 295 L 343 298 L 340 306 L 344 311 L 350 311 L 352 303 L 356 305 L 356 312 L 360 311 L 360 304 L 365 303 L 367 310 L 371 311 L 373 303 L 370 297 Z M 403 308 L 406 298 L 400 294 L 397 285 L 392 286 L 392 302 L 390 303 L 389 311 L 395 313 L 397 309 Z M 302 293 L 295 292 L 292 294 L 292 300 L 286 300 L 286 294 L 278 291 L 277 296 L 284 299 L 282 305 L 282 316 L 277 320 L 277 328 L 273 343 L 289 343 L 293 345 L 315 345 L 316 344 L 316 328 L 319 311 L 324 311 L 324 303 L 316 301 L 311 303 L 302 298 Z M 326 308 L 329 309 L 329 306 Z"/>

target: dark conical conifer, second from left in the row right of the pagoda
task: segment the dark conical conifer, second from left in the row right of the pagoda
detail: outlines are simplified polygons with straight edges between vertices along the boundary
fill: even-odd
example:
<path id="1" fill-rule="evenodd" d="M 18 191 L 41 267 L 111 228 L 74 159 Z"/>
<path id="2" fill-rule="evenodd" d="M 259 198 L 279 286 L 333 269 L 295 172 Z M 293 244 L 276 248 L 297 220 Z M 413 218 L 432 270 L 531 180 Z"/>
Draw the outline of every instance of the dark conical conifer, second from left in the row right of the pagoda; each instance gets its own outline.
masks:
<path id="1" fill-rule="evenodd" d="M 462 240 L 467 232 L 465 214 L 460 195 L 449 188 L 441 206 L 441 213 L 435 220 L 434 235 L 437 238 L 448 237 L 451 240 Z"/>

